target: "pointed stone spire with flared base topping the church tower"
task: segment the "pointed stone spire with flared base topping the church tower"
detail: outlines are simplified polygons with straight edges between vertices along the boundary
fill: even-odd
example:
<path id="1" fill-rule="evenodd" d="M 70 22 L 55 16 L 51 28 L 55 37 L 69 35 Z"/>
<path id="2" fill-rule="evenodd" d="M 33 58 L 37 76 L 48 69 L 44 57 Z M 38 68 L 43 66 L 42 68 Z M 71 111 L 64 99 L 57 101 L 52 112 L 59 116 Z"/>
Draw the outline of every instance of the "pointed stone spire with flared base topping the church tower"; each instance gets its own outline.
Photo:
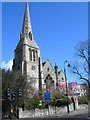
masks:
<path id="1" fill-rule="evenodd" d="M 32 39 L 29 37 L 30 33 L 32 35 Z M 38 45 L 34 41 L 33 34 L 32 34 L 28 2 L 26 2 L 22 32 L 21 32 L 21 36 L 20 36 L 20 41 L 19 41 L 16 49 L 20 48 L 22 45 L 28 45 L 30 47 L 39 49 Z"/>

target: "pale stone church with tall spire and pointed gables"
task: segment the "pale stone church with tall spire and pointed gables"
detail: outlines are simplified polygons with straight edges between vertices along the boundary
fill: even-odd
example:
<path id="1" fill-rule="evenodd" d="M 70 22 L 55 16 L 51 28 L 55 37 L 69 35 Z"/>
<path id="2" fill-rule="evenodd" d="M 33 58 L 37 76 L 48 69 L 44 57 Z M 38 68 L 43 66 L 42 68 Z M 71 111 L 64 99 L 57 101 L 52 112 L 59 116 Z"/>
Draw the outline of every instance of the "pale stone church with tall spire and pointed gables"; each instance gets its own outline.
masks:
<path id="1" fill-rule="evenodd" d="M 34 40 L 29 15 L 28 2 L 26 3 L 22 31 L 19 43 L 14 51 L 13 70 L 20 70 L 27 81 L 33 81 L 36 91 L 47 90 L 47 80 L 56 88 L 60 72 L 55 64 L 55 70 L 47 59 L 42 63 L 40 48 Z M 49 78 L 48 78 L 49 77 Z"/>

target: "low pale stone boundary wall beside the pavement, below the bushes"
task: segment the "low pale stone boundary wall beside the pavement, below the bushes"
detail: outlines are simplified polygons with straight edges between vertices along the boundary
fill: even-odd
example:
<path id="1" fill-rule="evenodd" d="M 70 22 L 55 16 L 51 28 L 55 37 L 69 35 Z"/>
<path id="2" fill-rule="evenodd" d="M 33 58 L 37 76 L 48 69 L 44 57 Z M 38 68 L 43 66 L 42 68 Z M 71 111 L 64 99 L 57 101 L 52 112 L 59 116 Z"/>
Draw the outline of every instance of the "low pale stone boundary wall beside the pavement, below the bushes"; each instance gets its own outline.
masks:
<path id="1" fill-rule="evenodd" d="M 71 110 L 69 106 L 70 112 L 74 111 Z M 88 105 L 79 105 L 78 110 L 84 110 L 88 109 Z M 55 113 L 56 111 L 56 113 Z M 65 115 L 67 114 L 67 107 L 58 107 L 52 108 L 49 107 L 49 113 L 48 109 L 35 109 L 35 110 L 25 110 L 22 111 L 21 108 L 19 108 L 19 118 L 33 118 L 33 117 L 40 117 L 40 116 L 47 116 L 47 115 L 55 115 L 55 114 L 60 114 L 60 115 Z"/>

